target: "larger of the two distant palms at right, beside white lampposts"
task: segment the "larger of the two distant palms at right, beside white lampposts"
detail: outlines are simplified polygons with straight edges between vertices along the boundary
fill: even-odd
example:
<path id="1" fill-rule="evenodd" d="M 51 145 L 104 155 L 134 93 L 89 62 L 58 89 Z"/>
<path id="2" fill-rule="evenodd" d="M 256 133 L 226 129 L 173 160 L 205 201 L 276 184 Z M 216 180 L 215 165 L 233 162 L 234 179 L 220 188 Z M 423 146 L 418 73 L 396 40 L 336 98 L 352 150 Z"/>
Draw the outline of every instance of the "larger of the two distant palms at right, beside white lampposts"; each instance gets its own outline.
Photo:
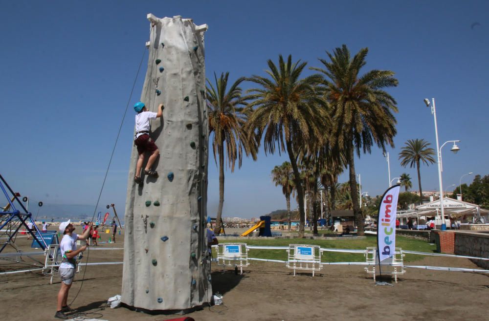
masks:
<path id="1" fill-rule="evenodd" d="M 420 204 L 423 203 L 423 193 L 421 190 L 421 174 L 420 174 L 420 162 L 423 162 L 427 166 L 428 163 L 435 163 L 435 150 L 429 147 L 431 144 L 425 141 L 424 139 L 408 139 L 406 142 L 406 146 L 404 146 L 400 153 L 400 165 L 402 167 L 406 167 L 409 164 L 409 167 L 413 168 L 416 164 L 416 169 L 418 170 L 418 183 L 420 185 Z"/>

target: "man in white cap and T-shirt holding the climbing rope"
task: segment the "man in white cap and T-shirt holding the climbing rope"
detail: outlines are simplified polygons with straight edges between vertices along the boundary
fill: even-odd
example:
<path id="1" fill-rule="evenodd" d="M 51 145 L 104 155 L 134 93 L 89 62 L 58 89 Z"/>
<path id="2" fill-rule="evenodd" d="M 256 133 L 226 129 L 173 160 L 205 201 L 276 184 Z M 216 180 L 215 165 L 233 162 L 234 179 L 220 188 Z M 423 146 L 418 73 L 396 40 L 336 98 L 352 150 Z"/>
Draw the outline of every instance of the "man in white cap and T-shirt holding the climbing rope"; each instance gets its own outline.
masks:
<path id="1" fill-rule="evenodd" d="M 60 224 L 60 233 L 63 233 L 63 238 L 60 242 L 60 251 L 61 256 L 63 257 L 63 262 L 59 267 L 59 274 L 61 278 L 61 288 L 58 292 L 58 301 L 57 301 L 57 309 L 55 318 L 58 319 L 68 319 L 65 312 L 73 312 L 68 305 L 68 292 L 73 279 L 75 278 L 75 269 L 76 269 L 76 257 L 81 252 L 87 249 L 87 246 L 81 246 L 79 249 L 76 249 L 76 241 L 77 240 L 86 240 L 90 236 L 91 232 L 91 224 L 88 229 L 86 229 L 82 235 L 77 235 L 73 233 L 75 227 L 71 224 L 70 220 L 66 222 L 62 222 Z"/>

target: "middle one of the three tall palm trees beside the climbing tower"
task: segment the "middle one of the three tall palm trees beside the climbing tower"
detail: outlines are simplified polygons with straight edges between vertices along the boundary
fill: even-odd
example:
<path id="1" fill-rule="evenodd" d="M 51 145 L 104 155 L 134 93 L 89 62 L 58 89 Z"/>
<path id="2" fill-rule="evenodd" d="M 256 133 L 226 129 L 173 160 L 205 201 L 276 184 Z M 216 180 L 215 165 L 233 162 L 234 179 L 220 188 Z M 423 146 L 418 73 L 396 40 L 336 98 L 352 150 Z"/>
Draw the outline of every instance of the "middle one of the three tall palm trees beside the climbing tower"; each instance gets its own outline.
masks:
<path id="1" fill-rule="evenodd" d="M 304 235 L 304 189 L 301 184 L 297 157 L 302 148 L 310 143 L 311 138 L 321 139 L 327 121 L 326 102 L 322 99 L 317 85 L 320 75 L 311 75 L 300 79 L 307 63 L 292 63 L 289 55 L 284 61 L 279 56 L 278 66 L 270 59 L 267 61 L 269 78 L 252 76 L 251 82 L 259 85 L 249 89 L 250 107 L 256 107 L 248 119 L 248 132 L 255 134 L 261 141 L 264 136 L 264 149 L 274 153 L 289 154 L 293 179 L 297 190 L 299 205 L 299 235 Z"/>

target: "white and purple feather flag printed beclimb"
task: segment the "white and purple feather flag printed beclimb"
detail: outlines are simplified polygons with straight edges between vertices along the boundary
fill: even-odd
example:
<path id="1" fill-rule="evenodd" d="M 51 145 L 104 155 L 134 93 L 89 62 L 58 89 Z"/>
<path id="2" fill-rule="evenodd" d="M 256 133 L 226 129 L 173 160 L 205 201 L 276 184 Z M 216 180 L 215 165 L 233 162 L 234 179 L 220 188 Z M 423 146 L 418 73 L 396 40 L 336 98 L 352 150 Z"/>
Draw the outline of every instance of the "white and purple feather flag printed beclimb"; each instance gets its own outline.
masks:
<path id="1" fill-rule="evenodd" d="M 393 257 L 396 249 L 396 213 L 400 185 L 385 191 L 378 208 L 377 249 L 378 261 Z"/>

